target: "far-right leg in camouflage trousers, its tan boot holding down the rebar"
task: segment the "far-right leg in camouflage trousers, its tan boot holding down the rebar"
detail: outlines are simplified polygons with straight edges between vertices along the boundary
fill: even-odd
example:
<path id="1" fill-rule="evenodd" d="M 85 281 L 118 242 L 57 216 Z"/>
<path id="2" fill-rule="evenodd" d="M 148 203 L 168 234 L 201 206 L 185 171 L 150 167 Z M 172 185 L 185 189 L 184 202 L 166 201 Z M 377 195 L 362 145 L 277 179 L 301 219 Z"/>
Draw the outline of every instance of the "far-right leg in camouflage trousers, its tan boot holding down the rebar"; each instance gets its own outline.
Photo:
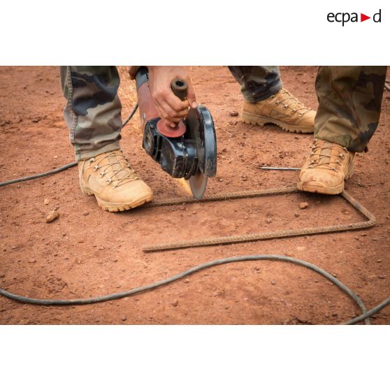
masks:
<path id="1" fill-rule="evenodd" d="M 380 118 L 386 66 L 322 66 L 316 80 L 319 100 L 315 141 L 298 189 L 340 194 Z"/>

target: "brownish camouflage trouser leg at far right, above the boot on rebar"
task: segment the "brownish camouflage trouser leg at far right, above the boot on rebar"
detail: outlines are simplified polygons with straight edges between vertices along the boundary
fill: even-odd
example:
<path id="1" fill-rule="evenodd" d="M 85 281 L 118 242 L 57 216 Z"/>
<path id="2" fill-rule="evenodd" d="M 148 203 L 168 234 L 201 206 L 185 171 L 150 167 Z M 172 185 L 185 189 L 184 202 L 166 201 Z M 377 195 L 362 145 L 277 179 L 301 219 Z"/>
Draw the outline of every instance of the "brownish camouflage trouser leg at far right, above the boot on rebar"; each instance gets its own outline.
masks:
<path id="1" fill-rule="evenodd" d="M 320 66 L 315 138 L 363 152 L 380 118 L 386 66 Z"/>

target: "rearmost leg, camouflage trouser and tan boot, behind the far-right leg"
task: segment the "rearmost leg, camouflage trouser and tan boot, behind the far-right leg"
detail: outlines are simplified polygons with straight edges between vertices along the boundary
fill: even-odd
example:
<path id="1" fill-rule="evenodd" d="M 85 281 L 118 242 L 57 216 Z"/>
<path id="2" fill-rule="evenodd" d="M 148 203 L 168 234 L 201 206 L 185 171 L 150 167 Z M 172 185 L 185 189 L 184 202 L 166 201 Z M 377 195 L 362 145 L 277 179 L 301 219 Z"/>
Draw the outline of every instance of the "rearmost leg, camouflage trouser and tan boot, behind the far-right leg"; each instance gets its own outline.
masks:
<path id="1" fill-rule="evenodd" d="M 282 88 L 278 66 L 229 66 L 244 96 L 243 121 L 273 123 L 292 133 L 312 133 L 315 111 Z"/>

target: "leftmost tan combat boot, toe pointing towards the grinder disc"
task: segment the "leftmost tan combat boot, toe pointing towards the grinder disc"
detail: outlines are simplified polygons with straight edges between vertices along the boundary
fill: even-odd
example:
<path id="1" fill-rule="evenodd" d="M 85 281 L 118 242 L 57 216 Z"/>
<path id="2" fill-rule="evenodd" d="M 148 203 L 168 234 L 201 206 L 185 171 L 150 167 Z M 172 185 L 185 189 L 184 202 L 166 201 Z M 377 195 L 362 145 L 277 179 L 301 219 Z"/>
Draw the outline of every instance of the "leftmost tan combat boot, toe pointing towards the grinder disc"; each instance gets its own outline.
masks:
<path id="1" fill-rule="evenodd" d="M 78 173 L 82 193 L 94 195 L 103 210 L 124 211 L 152 201 L 152 190 L 138 178 L 122 150 L 80 161 Z"/>

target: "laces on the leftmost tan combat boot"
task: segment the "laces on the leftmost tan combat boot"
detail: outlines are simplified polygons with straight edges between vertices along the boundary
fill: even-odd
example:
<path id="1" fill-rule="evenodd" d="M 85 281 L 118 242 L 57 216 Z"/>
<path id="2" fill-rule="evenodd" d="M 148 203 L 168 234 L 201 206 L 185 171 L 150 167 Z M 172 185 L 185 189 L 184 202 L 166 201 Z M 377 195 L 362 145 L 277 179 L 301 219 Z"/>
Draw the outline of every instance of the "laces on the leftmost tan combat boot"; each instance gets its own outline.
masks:
<path id="1" fill-rule="evenodd" d="M 110 159 L 112 157 L 112 161 Z M 106 183 L 109 185 L 113 183 L 113 187 L 118 187 L 128 182 L 138 180 L 136 171 L 131 168 L 129 161 L 122 153 L 109 152 L 99 157 L 92 157 L 89 159 L 89 164 L 94 163 L 94 170 L 100 171 L 101 178 L 107 177 Z M 103 164 L 102 164 L 103 163 Z"/>

